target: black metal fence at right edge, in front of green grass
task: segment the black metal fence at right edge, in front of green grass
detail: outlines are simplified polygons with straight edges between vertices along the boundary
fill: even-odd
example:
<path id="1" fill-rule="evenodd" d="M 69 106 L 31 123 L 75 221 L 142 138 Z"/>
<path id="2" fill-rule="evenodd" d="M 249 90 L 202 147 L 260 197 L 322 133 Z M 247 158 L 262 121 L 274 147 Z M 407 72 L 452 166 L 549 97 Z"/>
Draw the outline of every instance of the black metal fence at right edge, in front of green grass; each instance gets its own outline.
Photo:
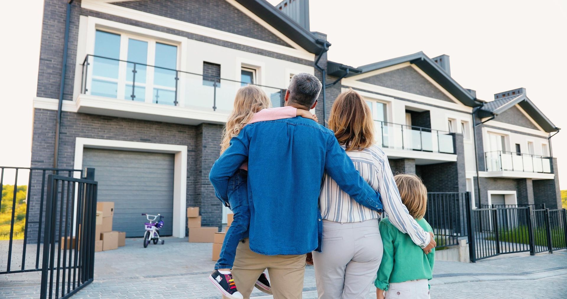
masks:
<path id="1" fill-rule="evenodd" d="M 467 209 L 471 262 L 500 254 L 566 249 L 565 209 L 494 207 Z"/>

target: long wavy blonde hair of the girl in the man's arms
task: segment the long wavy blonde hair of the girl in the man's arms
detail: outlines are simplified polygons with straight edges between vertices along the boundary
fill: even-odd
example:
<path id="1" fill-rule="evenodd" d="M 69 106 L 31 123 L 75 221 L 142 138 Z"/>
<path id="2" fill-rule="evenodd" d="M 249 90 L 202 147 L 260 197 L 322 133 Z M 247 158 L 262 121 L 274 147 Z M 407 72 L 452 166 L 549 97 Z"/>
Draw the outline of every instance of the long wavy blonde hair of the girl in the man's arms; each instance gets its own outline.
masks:
<path id="1" fill-rule="evenodd" d="M 238 136 L 240 130 L 250 122 L 254 113 L 270 108 L 268 95 L 256 85 L 240 87 L 234 98 L 234 108 L 229 120 L 222 130 L 221 154 L 229 148 L 232 137 Z"/>

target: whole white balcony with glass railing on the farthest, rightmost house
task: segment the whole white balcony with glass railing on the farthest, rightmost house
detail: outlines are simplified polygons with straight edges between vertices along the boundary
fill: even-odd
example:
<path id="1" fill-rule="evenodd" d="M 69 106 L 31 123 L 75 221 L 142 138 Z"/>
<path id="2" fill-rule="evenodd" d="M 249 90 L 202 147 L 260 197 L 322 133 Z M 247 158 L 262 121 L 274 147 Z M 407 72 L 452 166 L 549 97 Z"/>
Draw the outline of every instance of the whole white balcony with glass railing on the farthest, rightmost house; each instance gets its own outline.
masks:
<path id="1" fill-rule="evenodd" d="M 488 151 L 484 153 L 488 177 L 553 179 L 552 157 L 515 153 L 513 151 Z"/>

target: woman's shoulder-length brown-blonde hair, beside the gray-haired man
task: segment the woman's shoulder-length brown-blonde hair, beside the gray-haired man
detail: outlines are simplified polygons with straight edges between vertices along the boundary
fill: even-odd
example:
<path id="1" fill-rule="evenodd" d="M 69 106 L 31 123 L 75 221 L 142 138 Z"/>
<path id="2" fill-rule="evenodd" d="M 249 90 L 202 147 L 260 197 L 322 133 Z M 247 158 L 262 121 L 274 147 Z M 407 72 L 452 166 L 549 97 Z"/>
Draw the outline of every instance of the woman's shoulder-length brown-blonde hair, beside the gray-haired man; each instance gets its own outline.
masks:
<path id="1" fill-rule="evenodd" d="M 374 144 L 372 112 L 362 96 L 352 89 L 337 96 L 329 129 L 335 131 L 338 143 L 346 146 L 346 150 L 360 150 Z"/>

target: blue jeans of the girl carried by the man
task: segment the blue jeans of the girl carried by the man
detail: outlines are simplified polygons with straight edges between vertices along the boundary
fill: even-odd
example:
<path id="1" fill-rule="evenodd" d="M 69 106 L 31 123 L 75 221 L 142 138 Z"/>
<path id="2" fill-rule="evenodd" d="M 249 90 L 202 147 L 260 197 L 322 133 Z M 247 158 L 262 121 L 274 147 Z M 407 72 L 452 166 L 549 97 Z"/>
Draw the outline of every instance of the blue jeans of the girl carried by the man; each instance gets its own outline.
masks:
<path id="1" fill-rule="evenodd" d="M 226 231 L 221 254 L 215 269 L 231 269 L 240 240 L 248 237 L 250 225 L 250 206 L 248 197 L 248 171 L 239 169 L 229 180 L 229 204 L 234 220 Z"/>

